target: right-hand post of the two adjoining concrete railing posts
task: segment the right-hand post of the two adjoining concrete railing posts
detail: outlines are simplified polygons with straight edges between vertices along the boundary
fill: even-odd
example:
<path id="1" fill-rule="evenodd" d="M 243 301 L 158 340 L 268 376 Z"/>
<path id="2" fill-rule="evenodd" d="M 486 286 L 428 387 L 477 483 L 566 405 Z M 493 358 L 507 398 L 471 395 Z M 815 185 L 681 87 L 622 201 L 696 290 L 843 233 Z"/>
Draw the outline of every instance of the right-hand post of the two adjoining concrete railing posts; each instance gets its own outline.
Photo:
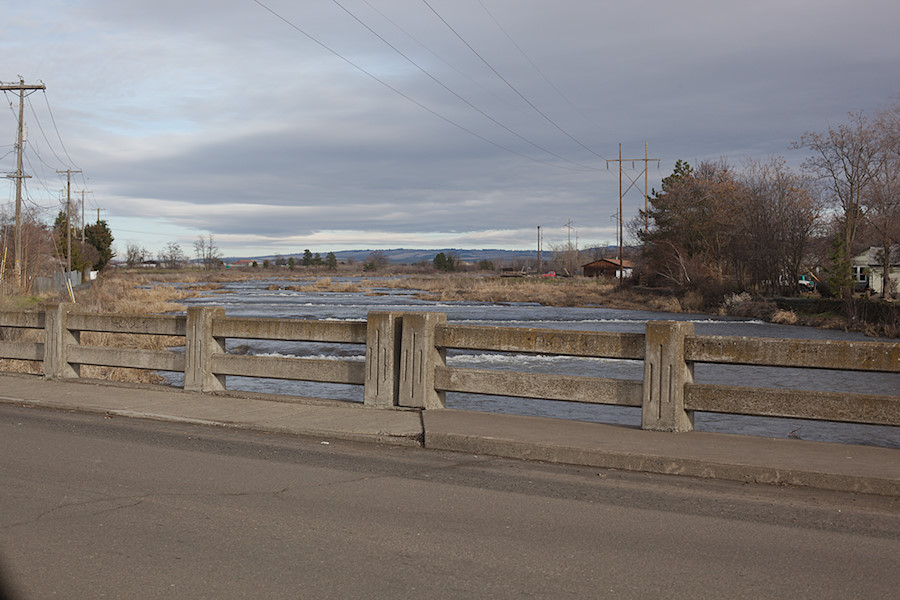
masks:
<path id="1" fill-rule="evenodd" d="M 400 349 L 400 406 L 444 408 L 445 393 L 434 389 L 434 368 L 446 364 L 446 351 L 434 345 L 434 330 L 444 313 L 406 313 Z"/>

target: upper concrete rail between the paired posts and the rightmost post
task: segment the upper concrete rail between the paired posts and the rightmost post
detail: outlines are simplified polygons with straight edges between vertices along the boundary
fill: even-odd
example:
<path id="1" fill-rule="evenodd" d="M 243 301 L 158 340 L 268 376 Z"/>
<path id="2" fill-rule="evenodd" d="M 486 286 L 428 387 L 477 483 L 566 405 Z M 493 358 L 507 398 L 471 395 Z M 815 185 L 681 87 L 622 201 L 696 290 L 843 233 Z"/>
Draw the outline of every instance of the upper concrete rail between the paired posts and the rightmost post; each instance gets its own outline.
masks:
<path id="1" fill-rule="evenodd" d="M 435 329 L 435 344 L 459 350 L 644 359 L 642 333 L 439 325 Z"/>

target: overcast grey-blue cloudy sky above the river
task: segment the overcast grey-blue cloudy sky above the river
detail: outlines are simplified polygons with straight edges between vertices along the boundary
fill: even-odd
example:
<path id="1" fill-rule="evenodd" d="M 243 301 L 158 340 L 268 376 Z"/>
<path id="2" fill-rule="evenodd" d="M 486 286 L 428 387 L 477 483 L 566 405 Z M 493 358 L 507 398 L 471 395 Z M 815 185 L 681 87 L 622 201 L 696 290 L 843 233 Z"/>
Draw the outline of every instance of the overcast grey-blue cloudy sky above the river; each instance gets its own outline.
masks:
<path id="1" fill-rule="evenodd" d="M 46 85 L 26 206 L 52 219 L 56 170 L 81 170 L 120 254 L 523 249 L 568 222 L 614 243 L 620 143 L 660 160 L 651 187 L 679 158 L 799 165 L 804 132 L 900 99 L 896 0 L 32 0 L 3 22 L 0 81 Z"/>

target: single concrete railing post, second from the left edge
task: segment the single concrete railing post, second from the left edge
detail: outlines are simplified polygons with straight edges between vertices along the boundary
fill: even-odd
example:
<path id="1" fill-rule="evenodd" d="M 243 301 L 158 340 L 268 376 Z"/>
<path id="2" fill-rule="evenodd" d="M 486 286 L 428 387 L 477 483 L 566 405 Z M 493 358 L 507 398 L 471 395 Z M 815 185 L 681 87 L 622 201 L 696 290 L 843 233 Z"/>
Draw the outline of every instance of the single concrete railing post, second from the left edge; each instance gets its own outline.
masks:
<path id="1" fill-rule="evenodd" d="M 215 375 L 212 359 L 225 353 L 225 338 L 213 337 L 213 320 L 225 316 L 219 307 L 188 307 L 184 348 L 184 389 L 213 392 L 225 389 L 225 376 Z"/>

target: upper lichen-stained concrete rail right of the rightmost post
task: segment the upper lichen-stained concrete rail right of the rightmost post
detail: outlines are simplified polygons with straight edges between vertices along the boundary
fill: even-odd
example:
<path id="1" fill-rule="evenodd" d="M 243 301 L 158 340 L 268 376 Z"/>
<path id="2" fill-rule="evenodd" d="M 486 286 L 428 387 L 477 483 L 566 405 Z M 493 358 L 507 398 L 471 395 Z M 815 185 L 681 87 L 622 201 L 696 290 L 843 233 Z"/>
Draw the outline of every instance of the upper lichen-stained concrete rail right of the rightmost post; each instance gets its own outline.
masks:
<path id="1" fill-rule="evenodd" d="M 900 344 L 689 336 L 685 359 L 733 365 L 765 365 L 900 373 Z"/>

